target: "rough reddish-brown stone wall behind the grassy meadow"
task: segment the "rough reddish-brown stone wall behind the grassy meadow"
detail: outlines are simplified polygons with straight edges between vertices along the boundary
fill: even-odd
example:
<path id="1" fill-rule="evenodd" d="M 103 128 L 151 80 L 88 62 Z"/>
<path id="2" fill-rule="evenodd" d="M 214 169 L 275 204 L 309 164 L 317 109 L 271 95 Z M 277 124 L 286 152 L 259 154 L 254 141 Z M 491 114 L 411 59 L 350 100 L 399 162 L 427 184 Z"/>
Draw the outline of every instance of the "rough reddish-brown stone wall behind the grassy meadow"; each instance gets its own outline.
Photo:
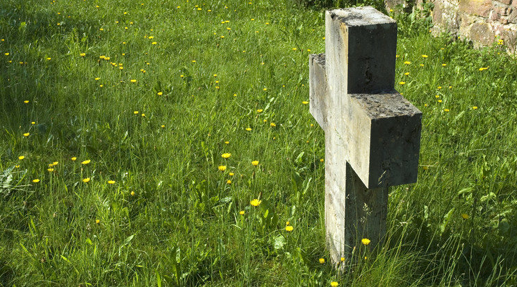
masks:
<path id="1" fill-rule="evenodd" d="M 393 3 L 398 1 L 386 0 L 386 6 L 391 8 L 389 6 L 393 7 Z M 433 33 L 448 31 L 472 40 L 476 47 L 497 43 L 504 44 L 510 51 L 516 49 L 517 0 L 430 1 L 434 3 Z"/>

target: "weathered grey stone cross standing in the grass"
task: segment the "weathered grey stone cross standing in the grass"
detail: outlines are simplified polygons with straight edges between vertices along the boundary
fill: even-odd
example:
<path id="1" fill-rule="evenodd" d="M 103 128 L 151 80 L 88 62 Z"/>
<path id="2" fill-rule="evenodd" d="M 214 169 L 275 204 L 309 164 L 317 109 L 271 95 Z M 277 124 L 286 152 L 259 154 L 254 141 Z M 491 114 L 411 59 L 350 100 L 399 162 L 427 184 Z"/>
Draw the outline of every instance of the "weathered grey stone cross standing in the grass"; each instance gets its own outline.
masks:
<path id="1" fill-rule="evenodd" d="M 394 89 L 397 23 L 372 7 L 325 14 L 325 54 L 310 55 L 310 111 L 325 130 L 331 262 L 386 234 L 388 186 L 416 182 L 422 112 Z M 364 250 L 364 247 L 362 247 Z"/>

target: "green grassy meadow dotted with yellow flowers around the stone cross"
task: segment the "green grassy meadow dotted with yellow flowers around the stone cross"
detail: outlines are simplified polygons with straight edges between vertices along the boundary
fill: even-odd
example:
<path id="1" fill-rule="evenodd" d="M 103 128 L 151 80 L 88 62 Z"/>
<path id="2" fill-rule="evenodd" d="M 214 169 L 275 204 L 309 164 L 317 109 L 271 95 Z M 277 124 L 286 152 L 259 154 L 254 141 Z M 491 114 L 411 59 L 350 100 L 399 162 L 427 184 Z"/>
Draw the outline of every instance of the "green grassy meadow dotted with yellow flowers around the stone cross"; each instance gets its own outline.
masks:
<path id="1" fill-rule="evenodd" d="M 418 182 L 337 272 L 308 104 L 323 9 L 2 0 L 0 286 L 516 286 L 515 57 L 386 12 Z"/>

